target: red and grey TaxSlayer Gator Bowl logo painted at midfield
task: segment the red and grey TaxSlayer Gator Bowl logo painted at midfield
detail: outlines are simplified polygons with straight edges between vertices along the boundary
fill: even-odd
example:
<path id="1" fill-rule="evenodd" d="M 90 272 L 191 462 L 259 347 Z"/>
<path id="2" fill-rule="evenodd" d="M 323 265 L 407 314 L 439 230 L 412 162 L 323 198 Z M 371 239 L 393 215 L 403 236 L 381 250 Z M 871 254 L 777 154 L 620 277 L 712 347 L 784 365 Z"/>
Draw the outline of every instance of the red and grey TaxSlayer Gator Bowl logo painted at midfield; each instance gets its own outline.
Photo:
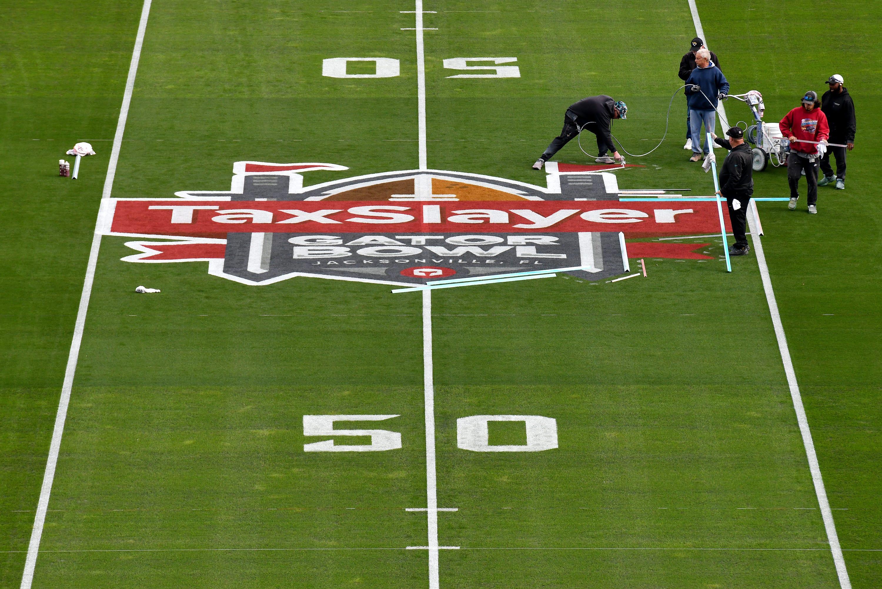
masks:
<path id="1" fill-rule="evenodd" d="M 126 262 L 208 262 L 208 272 L 249 285 L 295 276 L 379 284 L 553 270 L 600 279 L 627 256 L 712 259 L 706 244 L 628 237 L 719 231 L 714 203 L 618 202 L 602 166 L 549 162 L 546 185 L 488 175 L 407 170 L 303 186 L 322 163 L 237 161 L 227 191 L 176 198 L 112 198 L 101 233 L 146 237 Z M 609 170 L 609 168 L 605 168 Z M 621 169 L 621 168 L 618 168 Z M 156 241 L 170 240 L 170 241 Z"/>

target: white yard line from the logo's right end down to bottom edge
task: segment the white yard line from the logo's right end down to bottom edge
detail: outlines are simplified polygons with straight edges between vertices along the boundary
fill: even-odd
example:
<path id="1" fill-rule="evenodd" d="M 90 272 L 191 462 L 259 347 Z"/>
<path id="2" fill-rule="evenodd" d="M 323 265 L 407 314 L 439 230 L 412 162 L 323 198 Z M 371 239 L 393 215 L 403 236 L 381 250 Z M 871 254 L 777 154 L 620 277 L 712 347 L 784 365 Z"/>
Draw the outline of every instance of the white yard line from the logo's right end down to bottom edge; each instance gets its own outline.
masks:
<path id="1" fill-rule="evenodd" d="M 787 375 L 787 384 L 790 388 L 790 399 L 793 399 L 793 408 L 796 410 L 796 421 L 799 423 L 799 433 L 803 436 L 805 455 L 809 460 L 811 481 L 815 485 L 815 495 L 818 496 L 818 505 L 821 509 L 821 517 L 824 519 L 824 528 L 827 534 L 827 542 L 830 544 L 830 552 L 833 554 L 833 563 L 836 565 L 836 575 L 839 577 L 841 589 L 851 589 L 851 580 L 848 578 L 848 570 L 845 567 L 845 559 L 842 557 L 842 548 L 839 545 L 839 535 L 836 533 L 836 523 L 833 521 L 833 511 L 827 501 L 824 479 L 821 476 L 821 467 L 818 464 L 818 455 L 815 453 L 815 444 L 811 439 L 809 420 L 805 416 L 803 396 L 799 392 L 799 384 L 796 382 L 796 371 L 793 369 L 793 361 L 790 359 L 790 349 L 787 345 L 787 334 L 784 333 L 784 325 L 781 324 L 781 314 L 778 312 L 778 302 L 775 300 L 772 278 L 766 265 L 766 254 L 763 252 L 763 242 L 754 225 L 753 211 L 748 209 L 747 222 L 751 227 L 753 236 L 753 249 L 756 251 L 759 275 L 763 280 L 763 290 L 766 291 L 766 302 L 769 313 L 772 315 L 774 336 L 778 340 L 778 351 L 781 353 L 781 362 L 784 364 L 784 374 Z"/>

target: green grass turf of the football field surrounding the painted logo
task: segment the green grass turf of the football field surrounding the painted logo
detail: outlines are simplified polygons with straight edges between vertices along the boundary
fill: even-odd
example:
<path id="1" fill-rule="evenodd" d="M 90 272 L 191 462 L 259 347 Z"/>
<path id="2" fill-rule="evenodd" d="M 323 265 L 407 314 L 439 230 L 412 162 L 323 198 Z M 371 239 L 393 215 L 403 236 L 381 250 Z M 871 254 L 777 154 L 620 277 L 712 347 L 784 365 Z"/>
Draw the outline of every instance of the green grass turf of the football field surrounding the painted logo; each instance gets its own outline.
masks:
<path id="1" fill-rule="evenodd" d="M 86 314 L 78 305 L 102 190 L 227 191 L 243 161 L 333 165 L 302 172 L 307 188 L 417 169 L 546 187 L 554 175 L 529 166 L 584 96 L 626 101 L 617 138 L 634 153 L 655 145 L 696 34 L 686 0 L 143 8 L 22 3 L 0 21 L 0 585 L 32 586 L 22 581 L 28 559 L 35 588 L 882 584 L 878 6 L 699 2 L 732 92 L 761 91 L 766 121 L 833 71 L 855 96 L 848 189 L 819 189 L 817 216 L 803 202 L 797 212 L 759 204 L 761 263 L 756 235 L 727 273 L 719 238 L 634 233 L 634 250 L 691 243 L 702 259 L 647 255 L 646 278 L 617 282 L 559 274 L 391 294 L 370 281 L 254 286 L 210 274 L 206 261 L 123 261 L 141 238 L 103 235 Z M 323 76 L 334 57 L 397 60 L 400 73 Z M 498 65 L 519 77 L 449 78 L 461 71 L 444 60 L 457 57 L 514 57 Z M 674 99 L 662 147 L 613 173 L 619 189 L 713 192 L 681 149 L 683 102 Z M 749 117 L 726 104 L 732 123 Z M 98 155 L 76 182 L 58 178 L 54 161 L 80 140 Z M 556 160 L 590 162 L 575 142 Z M 785 176 L 756 173 L 755 196 L 787 196 Z M 826 525 L 766 263 L 826 484 Z M 136 295 L 138 285 L 162 292 Z M 49 488 L 65 367 L 70 405 Z M 400 447 L 304 451 L 332 438 L 370 444 L 304 435 L 304 416 L 321 415 L 386 417 L 335 429 L 397 432 Z M 556 447 L 464 449 L 458 420 L 509 415 L 554 420 Z M 486 441 L 534 444 L 525 424 L 489 421 Z"/>

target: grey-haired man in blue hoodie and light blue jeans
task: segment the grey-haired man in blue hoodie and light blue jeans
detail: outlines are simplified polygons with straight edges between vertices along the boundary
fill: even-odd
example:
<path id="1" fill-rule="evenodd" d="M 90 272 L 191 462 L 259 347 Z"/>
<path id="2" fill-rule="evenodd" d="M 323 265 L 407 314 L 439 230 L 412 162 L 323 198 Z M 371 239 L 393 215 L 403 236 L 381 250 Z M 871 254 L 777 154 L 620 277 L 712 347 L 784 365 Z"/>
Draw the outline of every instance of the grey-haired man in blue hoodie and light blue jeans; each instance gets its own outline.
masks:
<path id="1" fill-rule="evenodd" d="M 716 107 L 719 101 L 729 94 L 729 82 L 722 75 L 720 68 L 711 61 L 707 48 L 695 52 L 696 68 L 686 80 L 686 100 L 689 102 L 689 119 L 692 134 L 692 157 L 690 161 L 701 160 L 701 123 L 711 133 L 716 129 Z M 705 142 L 704 152 L 709 153 L 711 146 Z"/>

